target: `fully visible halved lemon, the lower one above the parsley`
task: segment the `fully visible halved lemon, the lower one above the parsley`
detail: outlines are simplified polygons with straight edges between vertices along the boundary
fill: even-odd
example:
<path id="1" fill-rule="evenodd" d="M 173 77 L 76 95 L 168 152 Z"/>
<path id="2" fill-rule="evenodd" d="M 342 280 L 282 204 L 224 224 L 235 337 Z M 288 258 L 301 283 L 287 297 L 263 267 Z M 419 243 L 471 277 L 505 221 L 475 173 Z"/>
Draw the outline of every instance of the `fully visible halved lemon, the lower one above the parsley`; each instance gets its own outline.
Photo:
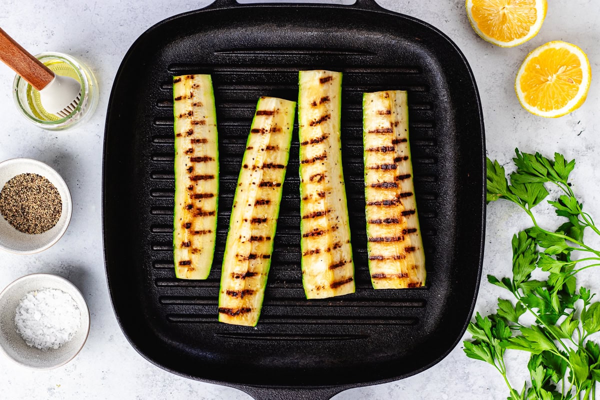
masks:
<path id="1" fill-rule="evenodd" d="M 515 91 L 530 113 L 556 118 L 583 104 L 591 80 L 592 68 L 583 50 L 551 41 L 527 55 L 517 73 Z"/>

